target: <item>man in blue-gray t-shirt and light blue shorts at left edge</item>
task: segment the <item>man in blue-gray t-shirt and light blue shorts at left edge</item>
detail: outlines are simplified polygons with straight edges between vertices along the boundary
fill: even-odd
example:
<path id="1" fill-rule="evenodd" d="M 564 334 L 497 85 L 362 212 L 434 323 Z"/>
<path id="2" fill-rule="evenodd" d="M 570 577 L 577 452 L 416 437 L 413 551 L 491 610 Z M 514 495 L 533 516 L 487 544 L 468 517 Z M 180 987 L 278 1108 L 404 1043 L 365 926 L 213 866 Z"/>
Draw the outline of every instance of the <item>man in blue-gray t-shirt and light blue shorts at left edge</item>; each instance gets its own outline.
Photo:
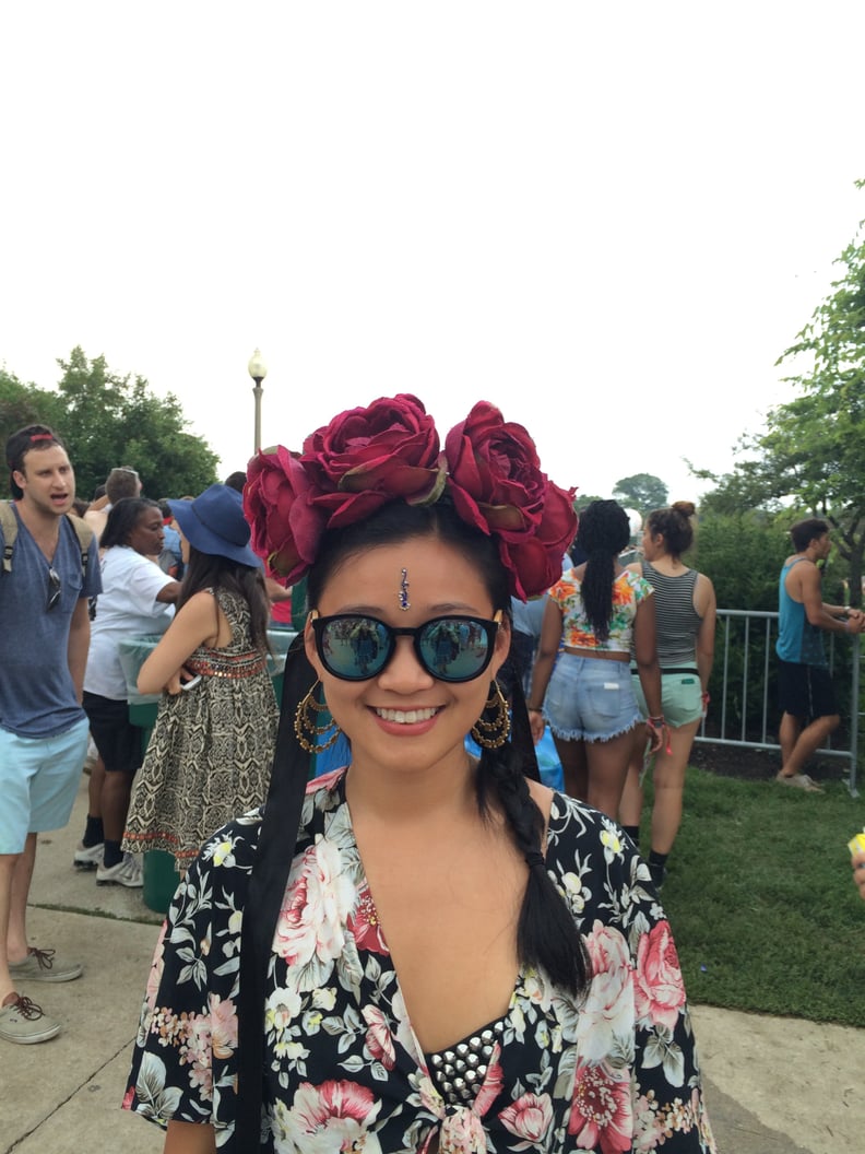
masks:
<path id="1" fill-rule="evenodd" d="M 9 437 L 6 459 L 16 532 L 10 569 L 0 571 L 0 1041 L 30 1043 L 60 1026 L 23 991 L 82 972 L 28 945 L 25 912 L 37 834 L 66 825 L 81 780 L 88 601 L 101 584 L 96 541 L 82 562 L 66 516 L 75 474 L 60 439 L 31 425 Z M 1 529 L 0 538 L 5 548 Z"/>

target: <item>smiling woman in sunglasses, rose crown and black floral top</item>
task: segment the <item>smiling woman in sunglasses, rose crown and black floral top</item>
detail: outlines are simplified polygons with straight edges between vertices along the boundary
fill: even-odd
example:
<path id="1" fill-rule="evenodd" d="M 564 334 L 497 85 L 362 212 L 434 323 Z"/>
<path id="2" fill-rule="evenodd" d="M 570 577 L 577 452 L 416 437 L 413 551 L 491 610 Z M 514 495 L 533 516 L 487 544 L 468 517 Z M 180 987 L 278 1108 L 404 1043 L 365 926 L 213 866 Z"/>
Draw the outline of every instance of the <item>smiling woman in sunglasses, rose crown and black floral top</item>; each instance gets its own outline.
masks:
<path id="1" fill-rule="evenodd" d="M 498 688 L 572 494 L 492 405 L 442 451 L 400 395 L 260 454 L 245 500 L 309 615 L 266 804 L 172 902 L 125 1106 L 168 1154 L 713 1152 L 647 869 L 540 784 Z M 307 784 L 334 726 L 349 764 Z"/>

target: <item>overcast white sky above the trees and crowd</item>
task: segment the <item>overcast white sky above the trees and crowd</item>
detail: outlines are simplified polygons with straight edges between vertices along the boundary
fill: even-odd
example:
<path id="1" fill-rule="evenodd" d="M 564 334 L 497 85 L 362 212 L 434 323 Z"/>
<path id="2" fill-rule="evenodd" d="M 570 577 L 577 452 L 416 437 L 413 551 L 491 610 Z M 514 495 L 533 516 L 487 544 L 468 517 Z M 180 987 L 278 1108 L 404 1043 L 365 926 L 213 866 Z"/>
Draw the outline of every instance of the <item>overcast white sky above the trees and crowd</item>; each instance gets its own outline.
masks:
<path id="1" fill-rule="evenodd" d="M 81 344 L 225 473 L 486 398 L 562 485 L 671 500 L 789 399 L 865 217 L 865 5 L 28 0 L 0 15 L 0 362 Z"/>

